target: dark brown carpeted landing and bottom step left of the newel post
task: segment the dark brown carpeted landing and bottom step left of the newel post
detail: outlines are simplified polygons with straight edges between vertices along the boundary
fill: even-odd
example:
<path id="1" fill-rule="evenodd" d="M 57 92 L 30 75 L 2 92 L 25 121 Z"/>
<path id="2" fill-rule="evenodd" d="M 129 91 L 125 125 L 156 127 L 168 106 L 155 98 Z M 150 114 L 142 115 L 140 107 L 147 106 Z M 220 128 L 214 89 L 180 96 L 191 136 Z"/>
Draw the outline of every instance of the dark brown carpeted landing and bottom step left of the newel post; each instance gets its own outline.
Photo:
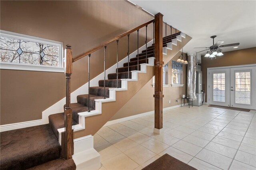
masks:
<path id="1" fill-rule="evenodd" d="M 72 159 L 60 159 L 61 147 L 49 124 L 5 131 L 0 135 L 1 170 L 25 170 L 32 167 L 76 169 Z M 62 166 L 58 162 L 62 162 Z"/>

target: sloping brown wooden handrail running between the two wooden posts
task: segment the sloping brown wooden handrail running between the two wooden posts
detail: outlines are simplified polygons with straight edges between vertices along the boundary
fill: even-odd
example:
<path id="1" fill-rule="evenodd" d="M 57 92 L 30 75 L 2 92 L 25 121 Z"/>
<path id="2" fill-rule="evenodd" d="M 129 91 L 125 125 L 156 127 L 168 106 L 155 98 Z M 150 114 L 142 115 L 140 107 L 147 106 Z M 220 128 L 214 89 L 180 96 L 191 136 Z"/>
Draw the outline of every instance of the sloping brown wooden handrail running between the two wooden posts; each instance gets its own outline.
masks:
<path id="1" fill-rule="evenodd" d="M 108 45 L 108 44 L 110 44 L 110 43 L 112 43 L 112 42 L 114 42 L 114 41 L 116 41 L 116 40 L 118 40 L 118 39 L 120 39 L 120 38 L 122 38 L 122 37 L 124 37 L 124 36 L 126 36 L 128 34 L 130 34 L 130 33 L 133 33 L 134 31 L 137 31 L 138 29 L 140 29 L 142 27 L 145 27 L 146 25 L 152 23 L 153 21 L 154 21 L 154 19 L 150 20 L 150 21 L 148 21 L 146 23 L 143 23 L 142 25 L 140 25 L 138 27 L 130 29 L 129 31 L 126 31 L 125 33 L 122 33 L 121 35 L 118 35 L 117 37 L 114 37 L 114 38 L 110 39 L 109 41 L 106 41 L 105 43 L 103 43 L 101 45 L 98 45 L 97 47 L 94 47 L 94 48 L 92 48 L 92 49 L 90 49 L 90 50 L 88 50 L 88 51 L 86 51 L 86 52 L 84 52 L 84 53 L 74 57 L 72 59 L 72 62 L 74 63 L 75 61 L 77 61 L 79 59 L 82 59 L 83 57 L 93 53 L 94 51 L 97 51 L 98 49 L 101 49 L 102 47 L 105 47 L 106 45 Z"/>

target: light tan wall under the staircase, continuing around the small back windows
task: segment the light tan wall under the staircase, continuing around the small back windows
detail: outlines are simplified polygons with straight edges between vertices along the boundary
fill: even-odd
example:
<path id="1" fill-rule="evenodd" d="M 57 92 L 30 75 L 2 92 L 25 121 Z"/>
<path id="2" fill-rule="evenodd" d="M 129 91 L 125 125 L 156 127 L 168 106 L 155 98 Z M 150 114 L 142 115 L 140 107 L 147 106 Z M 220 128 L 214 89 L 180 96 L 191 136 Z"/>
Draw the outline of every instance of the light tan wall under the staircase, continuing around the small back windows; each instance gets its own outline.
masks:
<path id="1" fill-rule="evenodd" d="M 181 52 L 178 52 L 172 60 L 177 61 Z M 169 87 L 164 87 L 163 107 L 176 106 L 180 104 L 182 94 L 186 92 L 186 65 L 183 65 L 182 83 L 183 87 L 172 87 L 172 60 L 168 62 L 168 84 Z M 152 79 L 135 94 L 110 120 L 120 119 L 140 113 L 145 113 L 154 110 L 154 88 L 151 86 Z M 178 103 L 175 100 L 178 100 Z M 171 103 L 169 104 L 169 100 Z"/>

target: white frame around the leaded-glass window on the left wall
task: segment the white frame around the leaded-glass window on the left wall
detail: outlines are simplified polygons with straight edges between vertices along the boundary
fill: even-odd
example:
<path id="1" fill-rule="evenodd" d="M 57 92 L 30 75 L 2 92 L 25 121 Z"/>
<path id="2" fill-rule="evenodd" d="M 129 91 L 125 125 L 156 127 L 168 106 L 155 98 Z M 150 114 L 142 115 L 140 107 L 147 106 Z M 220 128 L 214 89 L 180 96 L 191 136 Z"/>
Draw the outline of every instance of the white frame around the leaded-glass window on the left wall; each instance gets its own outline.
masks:
<path id="1" fill-rule="evenodd" d="M 64 72 L 63 64 L 63 43 L 58 41 L 53 41 L 49 39 L 34 37 L 30 35 L 24 35 L 20 33 L 13 33 L 10 31 L 0 30 L 0 35 L 9 38 L 23 39 L 26 41 L 32 41 L 37 43 L 44 43 L 48 45 L 55 45 L 59 47 L 59 66 L 44 66 L 44 65 L 34 65 L 34 64 L 20 64 L 20 63 L 5 63 L 0 62 L 0 69 L 8 70 L 29 70 L 29 71 L 44 71 L 44 72 Z"/>

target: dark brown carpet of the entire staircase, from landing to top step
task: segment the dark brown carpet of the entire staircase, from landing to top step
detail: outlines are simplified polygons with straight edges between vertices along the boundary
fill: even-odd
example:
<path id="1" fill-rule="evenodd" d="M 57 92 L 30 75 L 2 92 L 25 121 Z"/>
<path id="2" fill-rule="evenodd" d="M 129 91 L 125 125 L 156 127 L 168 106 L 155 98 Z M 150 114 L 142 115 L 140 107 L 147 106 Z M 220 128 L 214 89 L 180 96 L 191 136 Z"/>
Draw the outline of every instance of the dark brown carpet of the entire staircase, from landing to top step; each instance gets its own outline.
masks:
<path id="1" fill-rule="evenodd" d="M 179 33 L 177 33 L 179 35 Z M 166 37 L 167 43 L 175 39 L 176 35 Z M 165 38 L 163 39 L 165 47 Z M 104 97 L 109 98 L 109 88 L 121 88 L 121 79 L 132 78 L 133 70 L 140 70 L 140 64 L 148 63 L 148 59 L 154 57 L 154 45 L 143 50 L 142 53 L 131 58 L 129 63 L 124 63 L 118 68 L 117 73 L 108 74 L 108 80 L 99 80 L 98 87 L 90 87 L 90 100 L 88 94 L 77 96 L 77 103 L 72 103 L 72 125 L 77 125 L 78 113 L 95 109 L 95 100 Z M 138 65 L 139 63 L 139 65 Z M 128 72 L 129 65 L 129 72 Z M 65 107 L 65 106 L 64 106 Z M 75 170 L 73 159 L 60 158 L 61 147 L 58 141 L 58 129 L 64 127 L 64 113 L 52 114 L 49 124 L 16 129 L 1 132 L 0 139 L 0 169 L 24 170 L 24 169 L 51 169 L 51 170 Z"/>

